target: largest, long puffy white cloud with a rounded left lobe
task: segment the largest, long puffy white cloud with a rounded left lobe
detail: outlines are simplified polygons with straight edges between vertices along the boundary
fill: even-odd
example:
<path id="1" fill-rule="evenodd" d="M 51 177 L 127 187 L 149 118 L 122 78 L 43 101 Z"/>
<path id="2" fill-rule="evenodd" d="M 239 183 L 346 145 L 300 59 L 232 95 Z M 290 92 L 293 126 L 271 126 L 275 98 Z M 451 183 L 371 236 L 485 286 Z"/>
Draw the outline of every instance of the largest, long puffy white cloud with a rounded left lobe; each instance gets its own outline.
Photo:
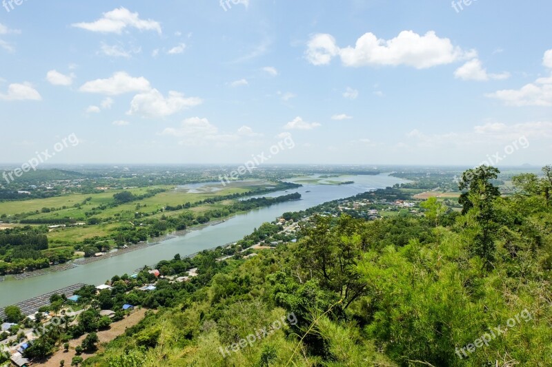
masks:
<path id="1" fill-rule="evenodd" d="M 377 39 L 375 34 L 361 36 L 355 47 L 339 48 L 331 34 L 315 34 L 307 43 L 306 59 L 313 65 L 328 65 L 335 56 L 349 67 L 407 65 L 425 69 L 446 65 L 475 56 L 454 46 L 450 39 L 430 31 L 420 36 L 411 30 L 400 32 L 394 39 Z"/>

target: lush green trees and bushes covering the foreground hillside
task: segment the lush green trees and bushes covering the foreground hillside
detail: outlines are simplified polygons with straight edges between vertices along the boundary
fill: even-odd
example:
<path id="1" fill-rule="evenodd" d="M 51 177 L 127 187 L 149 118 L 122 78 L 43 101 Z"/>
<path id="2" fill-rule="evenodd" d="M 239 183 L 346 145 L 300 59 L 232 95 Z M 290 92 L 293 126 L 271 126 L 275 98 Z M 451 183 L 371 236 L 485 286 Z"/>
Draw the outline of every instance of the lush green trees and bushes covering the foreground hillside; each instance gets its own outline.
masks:
<path id="1" fill-rule="evenodd" d="M 517 178 L 504 198 L 495 174 L 466 171 L 462 214 L 428 200 L 423 218 L 315 215 L 250 260 L 203 253 L 192 282 L 158 282 L 159 312 L 84 364 L 550 365 L 552 180 Z"/>

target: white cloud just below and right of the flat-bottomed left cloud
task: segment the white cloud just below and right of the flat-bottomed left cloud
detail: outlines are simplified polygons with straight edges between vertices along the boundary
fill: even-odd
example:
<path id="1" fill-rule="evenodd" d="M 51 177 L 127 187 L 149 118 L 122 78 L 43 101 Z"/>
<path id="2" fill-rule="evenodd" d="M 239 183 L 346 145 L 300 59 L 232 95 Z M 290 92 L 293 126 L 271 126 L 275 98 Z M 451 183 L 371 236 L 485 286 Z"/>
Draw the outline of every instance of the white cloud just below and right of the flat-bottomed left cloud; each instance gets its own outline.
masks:
<path id="1" fill-rule="evenodd" d="M 168 92 L 168 96 L 165 98 L 158 90 L 153 89 L 134 96 L 132 102 L 130 102 L 128 114 L 139 114 L 143 117 L 164 117 L 201 103 L 201 98 L 184 97 L 184 94 L 175 91 Z"/>

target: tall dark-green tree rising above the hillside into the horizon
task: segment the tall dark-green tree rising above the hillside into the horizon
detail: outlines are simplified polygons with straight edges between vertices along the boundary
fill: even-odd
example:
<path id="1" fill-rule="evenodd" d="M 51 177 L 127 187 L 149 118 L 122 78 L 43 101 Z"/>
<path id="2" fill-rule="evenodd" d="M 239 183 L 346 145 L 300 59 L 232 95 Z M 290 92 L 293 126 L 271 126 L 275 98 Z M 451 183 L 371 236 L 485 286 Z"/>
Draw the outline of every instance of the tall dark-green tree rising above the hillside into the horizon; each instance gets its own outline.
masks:
<path id="1" fill-rule="evenodd" d="M 486 267 L 491 266 L 495 252 L 495 233 L 498 228 L 495 220 L 495 200 L 500 191 L 491 180 L 498 177 L 500 171 L 495 167 L 480 166 L 469 169 L 462 174 L 458 184 L 462 193 L 458 202 L 464 206 L 462 214 L 473 218 L 473 252 L 485 260 Z"/>

